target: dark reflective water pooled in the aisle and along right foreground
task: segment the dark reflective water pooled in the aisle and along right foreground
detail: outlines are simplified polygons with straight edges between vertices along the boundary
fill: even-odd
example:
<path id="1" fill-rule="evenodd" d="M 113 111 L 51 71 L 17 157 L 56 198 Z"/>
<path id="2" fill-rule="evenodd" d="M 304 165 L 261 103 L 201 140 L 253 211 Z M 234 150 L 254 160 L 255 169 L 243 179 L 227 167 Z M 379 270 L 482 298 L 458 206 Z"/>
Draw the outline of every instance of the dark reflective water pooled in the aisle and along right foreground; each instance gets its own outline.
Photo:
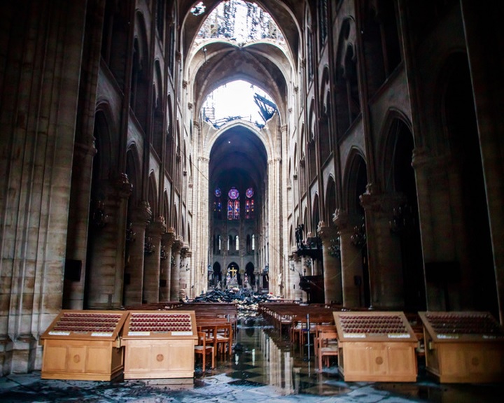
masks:
<path id="1" fill-rule="evenodd" d="M 197 377 L 204 384 L 205 376 L 225 373 L 236 381 L 235 385 L 274 386 L 282 395 L 318 395 L 342 397 L 349 395 L 352 401 L 366 395 L 387 395 L 402 398 L 401 401 L 426 402 L 501 402 L 504 393 L 502 385 L 485 384 L 440 384 L 429 376 L 424 362 L 419 362 L 419 377 L 416 383 L 346 383 L 337 371 L 337 358 L 332 358 L 331 366 L 316 367 L 313 346 L 300 349 L 292 346 L 285 335 L 280 336 L 273 327 L 261 326 L 248 321 L 241 325 L 236 335 L 236 347 L 229 362 L 220 360 L 214 372 L 202 376 L 201 368 Z M 388 400 L 387 400 L 388 401 Z"/>

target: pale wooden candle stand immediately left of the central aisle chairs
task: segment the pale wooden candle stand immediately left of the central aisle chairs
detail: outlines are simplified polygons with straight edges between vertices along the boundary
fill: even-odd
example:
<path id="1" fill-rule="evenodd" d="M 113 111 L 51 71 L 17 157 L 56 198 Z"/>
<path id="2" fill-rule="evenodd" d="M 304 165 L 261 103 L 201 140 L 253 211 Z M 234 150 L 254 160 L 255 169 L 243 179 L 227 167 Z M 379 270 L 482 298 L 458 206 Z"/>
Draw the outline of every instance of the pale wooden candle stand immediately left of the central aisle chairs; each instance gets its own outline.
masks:
<path id="1" fill-rule="evenodd" d="M 194 311 L 130 311 L 121 345 L 125 379 L 193 378 Z"/>

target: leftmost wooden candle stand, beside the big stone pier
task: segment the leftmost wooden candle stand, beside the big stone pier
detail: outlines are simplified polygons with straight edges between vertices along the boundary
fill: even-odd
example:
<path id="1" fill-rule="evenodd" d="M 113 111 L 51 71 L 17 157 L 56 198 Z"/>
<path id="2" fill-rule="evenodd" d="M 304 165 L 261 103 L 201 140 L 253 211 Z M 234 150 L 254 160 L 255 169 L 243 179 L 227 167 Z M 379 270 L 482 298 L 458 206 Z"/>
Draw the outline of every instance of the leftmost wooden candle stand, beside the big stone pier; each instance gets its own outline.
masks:
<path id="1" fill-rule="evenodd" d="M 123 371 L 125 311 L 64 310 L 41 336 L 43 379 L 111 381 Z"/>

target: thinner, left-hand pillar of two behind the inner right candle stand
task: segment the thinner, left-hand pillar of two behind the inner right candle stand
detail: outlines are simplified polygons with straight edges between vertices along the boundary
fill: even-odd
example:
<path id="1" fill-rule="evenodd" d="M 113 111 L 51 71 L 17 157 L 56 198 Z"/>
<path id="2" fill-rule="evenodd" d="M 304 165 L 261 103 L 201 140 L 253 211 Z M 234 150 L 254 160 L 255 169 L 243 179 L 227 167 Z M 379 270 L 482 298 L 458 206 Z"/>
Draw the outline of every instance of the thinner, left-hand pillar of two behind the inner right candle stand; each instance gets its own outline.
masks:
<path id="1" fill-rule="evenodd" d="M 333 222 L 337 225 L 339 234 L 339 251 L 342 264 L 343 305 L 348 307 L 363 306 L 363 267 L 362 250 L 353 245 L 353 227 L 349 224 L 346 211 L 337 210 Z M 361 279 L 361 285 L 356 284 L 356 276 Z"/>

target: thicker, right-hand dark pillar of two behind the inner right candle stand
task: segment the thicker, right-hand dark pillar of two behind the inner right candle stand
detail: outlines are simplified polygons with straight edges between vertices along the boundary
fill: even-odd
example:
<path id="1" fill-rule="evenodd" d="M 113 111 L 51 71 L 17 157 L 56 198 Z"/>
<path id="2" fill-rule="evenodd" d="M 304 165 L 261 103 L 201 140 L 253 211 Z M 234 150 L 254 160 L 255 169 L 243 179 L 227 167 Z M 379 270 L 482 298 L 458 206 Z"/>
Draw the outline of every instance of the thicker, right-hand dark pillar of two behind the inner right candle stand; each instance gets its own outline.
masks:
<path id="1" fill-rule="evenodd" d="M 404 306 L 400 241 L 391 236 L 389 225 L 393 208 L 403 201 L 400 195 L 374 195 L 370 185 L 360 196 L 365 210 L 371 306 L 378 309 Z"/>

